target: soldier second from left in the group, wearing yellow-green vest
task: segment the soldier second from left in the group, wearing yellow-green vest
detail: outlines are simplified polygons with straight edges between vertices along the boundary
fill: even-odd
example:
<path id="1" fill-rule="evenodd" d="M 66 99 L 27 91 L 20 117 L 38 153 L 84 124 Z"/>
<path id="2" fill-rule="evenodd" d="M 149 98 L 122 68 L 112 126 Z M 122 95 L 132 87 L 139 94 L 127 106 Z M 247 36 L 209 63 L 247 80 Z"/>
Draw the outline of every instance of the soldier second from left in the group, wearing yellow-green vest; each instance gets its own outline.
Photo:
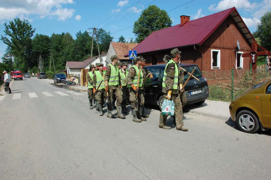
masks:
<path id="1" fill-rule="evenodd" d="M 95 100 L 97 102 L 97 107 L 100 111 L 100 116 L 103 115 L 103 103 L 106 101 L 106 92 L 105 92 L 105 84 L 103 79 L 103 65 L 101 63 L 96 63 L 96 66 L 99 68 L 98 71 L 94 72 L 93 75 L 93 93 L 95 93 Z M 101 85 L 100 85 L 100 82 Z M 98 86 L 100 85 L 99 89 Z"/>

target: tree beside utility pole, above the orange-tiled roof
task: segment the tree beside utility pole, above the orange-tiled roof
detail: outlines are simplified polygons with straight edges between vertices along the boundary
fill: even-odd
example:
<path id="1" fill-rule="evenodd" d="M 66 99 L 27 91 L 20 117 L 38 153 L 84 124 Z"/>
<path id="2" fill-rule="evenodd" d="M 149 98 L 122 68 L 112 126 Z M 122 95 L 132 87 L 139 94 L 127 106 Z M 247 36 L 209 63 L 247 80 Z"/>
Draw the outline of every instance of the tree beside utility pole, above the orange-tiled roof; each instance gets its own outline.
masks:
<path id="1" fill-rule="evenodd" d="M 110 36 L 110 32 L 106 32 L 104 29 L 98 31 L 98 40 L 100 51 L 108 51 L 110 42 L 113 40 L 113 36 Z"/>

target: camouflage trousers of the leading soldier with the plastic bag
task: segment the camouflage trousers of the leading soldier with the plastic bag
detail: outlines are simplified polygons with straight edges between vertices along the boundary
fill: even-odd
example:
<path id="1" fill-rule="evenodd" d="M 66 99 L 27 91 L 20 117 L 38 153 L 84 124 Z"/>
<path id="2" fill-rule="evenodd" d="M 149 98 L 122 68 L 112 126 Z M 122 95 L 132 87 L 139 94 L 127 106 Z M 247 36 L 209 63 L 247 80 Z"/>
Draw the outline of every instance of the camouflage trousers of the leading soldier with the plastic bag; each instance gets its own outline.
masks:
<path id="1" fill-rule="evenodd" d="M 164 94 L 164 97 L 162 98 L 162 101 L 165 100 L 165 97 L 167 94 Z M 183 126 L 183 113 L 182 113 L 182 102 L 180 98 L 180 94 L 171 94 L 171 100 L 175 104 L 175 109 L 174 109 L 174 116 L 176 120 L 176 129 L 180 130 L 181 127 Z M 159 120 L 159 127 L 166 125 L 166 119 L 167 115 L 162 115 L 162 111 L 160 113 L 160 120 Z"/>

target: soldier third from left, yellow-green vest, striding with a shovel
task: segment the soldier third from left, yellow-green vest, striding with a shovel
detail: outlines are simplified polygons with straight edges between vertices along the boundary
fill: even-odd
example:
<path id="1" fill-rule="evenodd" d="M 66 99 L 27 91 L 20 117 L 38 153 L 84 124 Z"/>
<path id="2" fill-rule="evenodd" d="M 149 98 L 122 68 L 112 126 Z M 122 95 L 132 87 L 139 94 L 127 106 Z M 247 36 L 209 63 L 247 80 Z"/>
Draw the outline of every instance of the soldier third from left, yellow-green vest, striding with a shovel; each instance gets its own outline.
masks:
<path id="1" fill-rule="evenodd" d="M 106 67 L 106 74 L 105 74 L 105 91 L 109 93 L 110 100 L 112 102 L 113 95 L 117 97 L 117 118 L 125 119 L 125 116 L 122 115 L 122 85 L 120 82 L 120 74 L 119 69 L 117 67 L 117 62 L 119 61 L 119 58 L 117 55 L 111 56 L 112 63 L 109 64 Z M 115 118 L 115 116 L 112 115 L 111 110 L 108 109 L 107 104 L 107 117 L 108 118 Z"/>

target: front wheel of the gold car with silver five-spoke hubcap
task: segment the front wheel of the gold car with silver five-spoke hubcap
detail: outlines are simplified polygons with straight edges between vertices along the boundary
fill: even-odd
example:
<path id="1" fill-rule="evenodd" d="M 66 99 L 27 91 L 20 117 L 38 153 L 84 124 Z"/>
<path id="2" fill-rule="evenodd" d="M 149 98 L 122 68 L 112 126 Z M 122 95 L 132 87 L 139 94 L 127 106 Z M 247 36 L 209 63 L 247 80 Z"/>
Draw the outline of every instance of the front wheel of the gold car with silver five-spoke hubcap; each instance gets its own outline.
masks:
<path id="1" fill-rule="evenodd" d="M 242 110 L 237 114 L 236 124 L 241 131 L 252 134 L 260 127 L 258 118 L 248 110 Z"/>

